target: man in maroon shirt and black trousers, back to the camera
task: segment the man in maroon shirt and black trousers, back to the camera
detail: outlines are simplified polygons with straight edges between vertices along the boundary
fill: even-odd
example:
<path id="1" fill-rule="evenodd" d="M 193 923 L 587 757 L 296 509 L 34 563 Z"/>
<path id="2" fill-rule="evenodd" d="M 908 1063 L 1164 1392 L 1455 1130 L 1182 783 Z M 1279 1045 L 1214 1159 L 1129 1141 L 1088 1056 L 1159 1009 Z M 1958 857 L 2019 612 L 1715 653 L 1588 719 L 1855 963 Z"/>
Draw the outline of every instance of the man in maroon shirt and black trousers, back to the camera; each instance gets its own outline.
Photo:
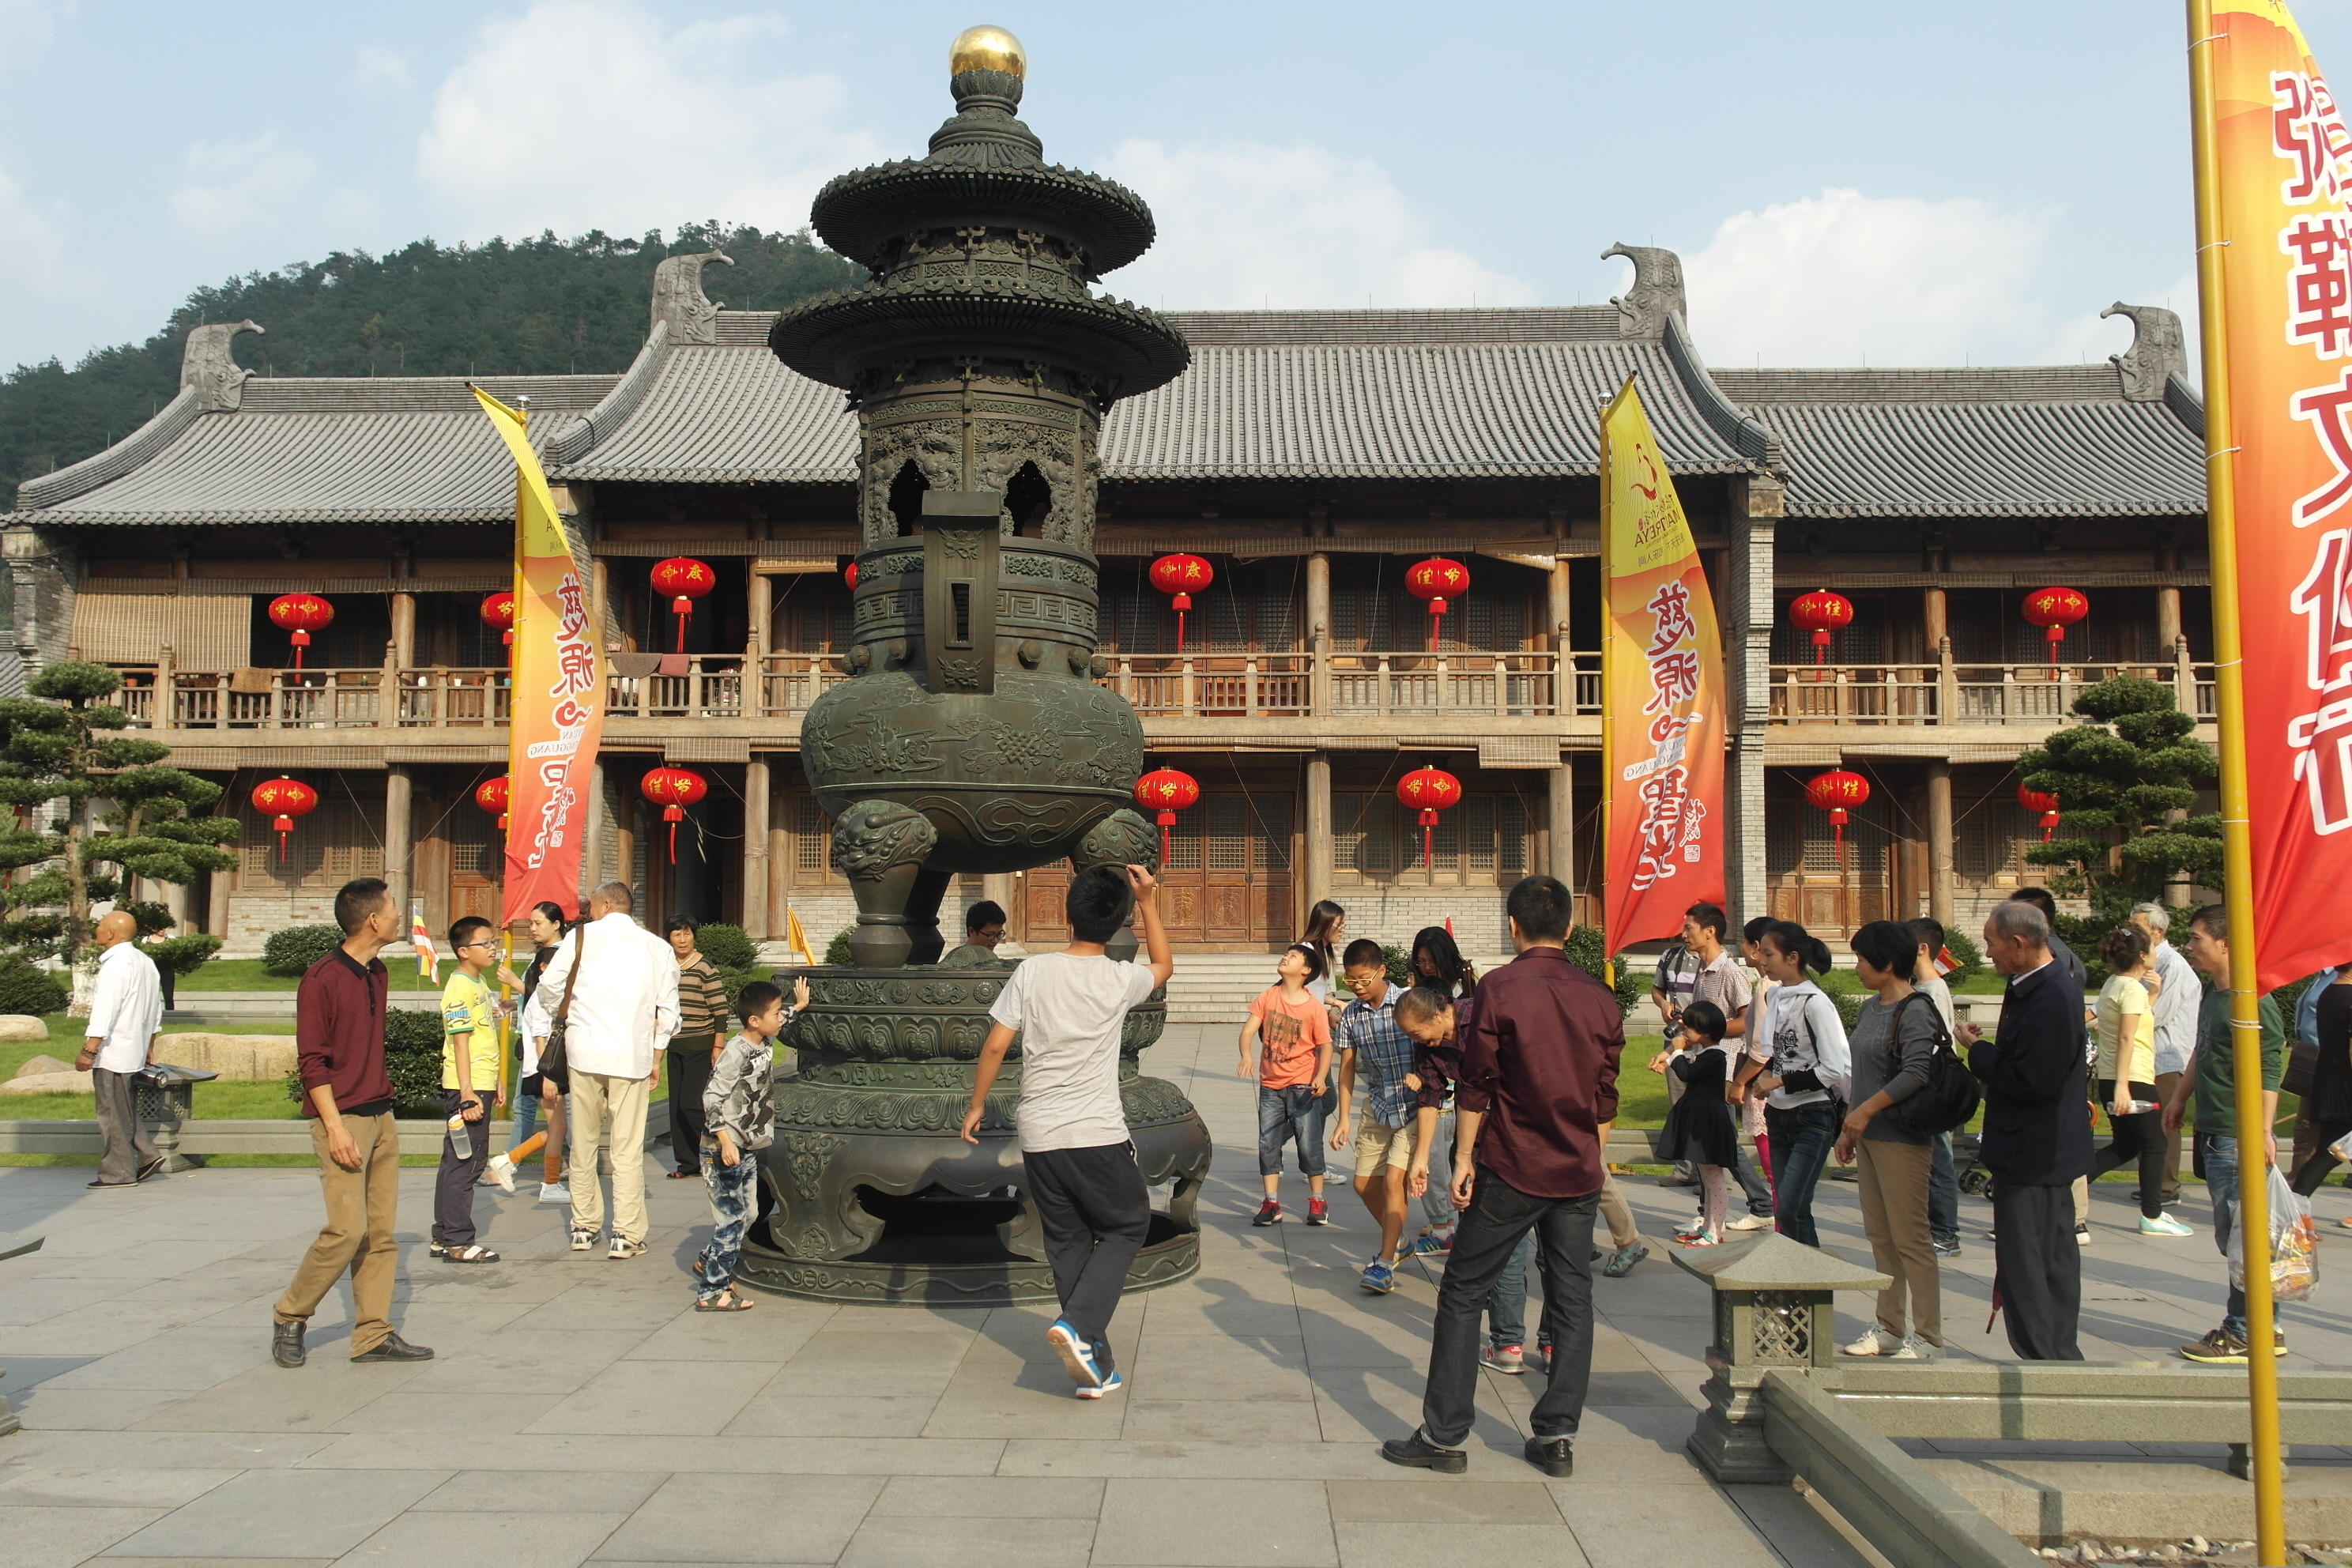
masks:
<path id="1" fill-rule="evenodd" d="M 1592 1213 L 1599 1206 L 1602 1128 L 1616 1119 L 1625 1016 L 1606 985 L 1569 961 L 1569 889 L 1526 877 L 1510 891 L 1510 945 L 1519 957 L 1477 987 L 1454 1095 L 1454 1206 L 1461 1227 L 1437 1286 L 1421 1427 L 1381 1443 L 1390 1465 L 1461 1474 L 1470 1455 L 1479 1312 L 1496 1274 L 1534 1229 L 1543 1267 L 1550 1380 L 1529 1420 L 1526 1462 L 1573 1472 L 1571 1443 L 1592 1378 Z"/>

